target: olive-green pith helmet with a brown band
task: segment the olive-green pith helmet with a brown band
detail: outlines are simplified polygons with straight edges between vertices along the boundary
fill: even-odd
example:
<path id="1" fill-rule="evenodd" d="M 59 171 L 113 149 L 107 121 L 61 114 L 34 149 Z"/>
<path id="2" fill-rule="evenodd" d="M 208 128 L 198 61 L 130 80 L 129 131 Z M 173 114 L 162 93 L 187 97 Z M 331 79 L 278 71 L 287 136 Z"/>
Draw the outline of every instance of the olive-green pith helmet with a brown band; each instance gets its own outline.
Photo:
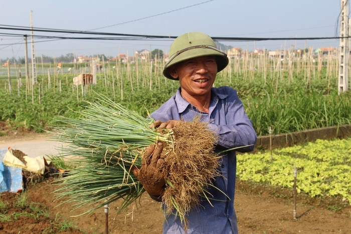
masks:
<path id="1" fill-rule="evenodd" d="M 171 80 L 174 79 L 168 68 L 179 62 L 202 56 L 216 56 L 218 72 L 228 65 L 226 53 L 217 49 L 215 42 L 208 35 L 199 32 L 186 33 L 176 38 L 169 49 L 169 60 L 164 65 L 163 75 Z"/>

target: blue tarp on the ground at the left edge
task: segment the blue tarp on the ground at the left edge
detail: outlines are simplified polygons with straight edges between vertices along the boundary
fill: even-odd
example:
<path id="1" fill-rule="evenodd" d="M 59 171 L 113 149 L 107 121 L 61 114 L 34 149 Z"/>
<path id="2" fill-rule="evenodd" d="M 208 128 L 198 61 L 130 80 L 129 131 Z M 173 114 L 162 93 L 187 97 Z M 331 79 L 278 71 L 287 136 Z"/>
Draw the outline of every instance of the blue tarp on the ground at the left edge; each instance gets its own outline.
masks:
<path id="1" fill-rule="evenodd" d="M 7 151 L 0 149 L 0 192 L 18 192 L 23 189 L 22 168 L 4 165 L 3 160 Z"/>

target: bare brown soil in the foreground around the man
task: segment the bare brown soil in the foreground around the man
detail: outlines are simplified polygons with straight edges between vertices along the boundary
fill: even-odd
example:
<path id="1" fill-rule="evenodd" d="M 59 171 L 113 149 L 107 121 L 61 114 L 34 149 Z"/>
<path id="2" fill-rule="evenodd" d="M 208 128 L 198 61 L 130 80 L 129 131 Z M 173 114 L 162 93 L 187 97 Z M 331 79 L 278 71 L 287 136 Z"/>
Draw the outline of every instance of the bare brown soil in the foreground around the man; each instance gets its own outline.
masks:
<path id="1" fill-rule="evenodd" d="M 19 136 L 23 140 L 43 137 L 41 134 L 28 132 L 12 133 L 0 137 L 0 141 Z M 0 205 L 0 232 L 104 233 L 106 226 L 109 233 L 162 232 L 164 216 L 160 203 L 145 193 L 139 203 L 131 205 L 126 213 L 116 214 L 120 201 L 110 203 L 106 225 L 103 208 L 88 215 L 75 216 L 86 209 L 72 211 L 67 204 L 59 205 L 60 201 L 53 193 L 58 186 L 49 177 L 29 184 L 26 191 L 19 194 L 0 193 L 0 204 L 7 204 L 6 207 Z M 287 189 L 237 180 L 234 204 L 239 233 L 351 233 L 351 206 L 348 202 L 338 198 L 310 198 L 305 194 L 298 194 L 296 218 L 293 218 L 292 194 Z M 25 196 L 27 201 L 22 206 L 18 204 L 21 196 Z M 39 211 L 34 211 L 29 204 L 37 205 Z M 26 212 L 28 215 L 12 220 L 2 219 L 2 214 Z"/>

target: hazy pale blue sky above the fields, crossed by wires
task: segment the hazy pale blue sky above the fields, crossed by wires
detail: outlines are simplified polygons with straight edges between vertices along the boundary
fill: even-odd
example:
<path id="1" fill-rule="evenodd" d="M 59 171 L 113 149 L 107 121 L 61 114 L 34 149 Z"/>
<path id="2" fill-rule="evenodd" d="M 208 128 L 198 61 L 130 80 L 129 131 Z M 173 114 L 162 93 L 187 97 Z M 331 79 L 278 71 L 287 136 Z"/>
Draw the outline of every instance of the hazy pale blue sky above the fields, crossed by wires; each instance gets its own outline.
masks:
<path id="1" fill-rule="evenodd" d="M 1 0 L 0 4 L 0 27 L 31 27 L 32 11 L 34 28 L 174 37 L 187 32 L 240 38 L 337 37 L 341 11 L 339 0 Z M 15 37 L 8 34 L 20 35 Z M 31 33 L 0 29 L 0 59 L 25 57 L 24 34 Z M 97 37 L 48 32 L 34 34 Z M 28 42 L 31 42 L 30 38 Z M 172 39 L 35 39 L 34 47 L 36 57 L 59 57 L 69 53 L 74 53 L 76 57 L 96 54 L 131 56 L 142 49 L 160 49 L 168 54 L 171 42 Z M 219 42 L 249 51 L 339 46 L 337 39 Z M 30 45 L 28 56 L 31 57 Z"/>

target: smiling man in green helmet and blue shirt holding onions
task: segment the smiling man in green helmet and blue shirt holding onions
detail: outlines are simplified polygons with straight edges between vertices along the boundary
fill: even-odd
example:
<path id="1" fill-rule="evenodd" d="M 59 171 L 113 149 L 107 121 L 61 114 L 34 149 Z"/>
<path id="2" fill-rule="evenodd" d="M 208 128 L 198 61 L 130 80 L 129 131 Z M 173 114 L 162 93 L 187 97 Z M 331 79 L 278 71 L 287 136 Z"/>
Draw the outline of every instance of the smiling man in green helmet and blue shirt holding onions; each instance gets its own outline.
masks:
<path id="1" fill-rule="evenodd" d="M 213 88 L 216 74 L 228 65 L 227 55 L 216 48 L 206 34 L 193 32 L 179 36 L 169 50 L 169 60 L 163 75 L 179 80 L 180 88 L 167 102 L 151 114 L 154 127 L 172 128 L 178 121 L 192 121 L 201 116 L 215 131 L 219 140 L 216 152 L 235 147 L 248 152 L 254 149 L 257 135 L 247 117 L 242 102 L 230 87 Z M 144 154 L 144 163 L 134 174 L 145 190 L 156 200 L 162 196 L 165 181 L 163 172 L 157 169 L 162 144 L 150 146 Z M 208 188 L 213 195 L 211 204 L 203 199 L 198 208 L 187 215 L 187 233 L 237 233 L 234 211 L 236 178 L 236 154 L 228 151 L 220 159 L 220 176 L 214 180 L 215 188 Z M 151 181 L 153 182 L 149 182 Z M 223 192 L 222 192 L 223 191 Z M 225 194 L 224 194 L 225 193 Z M 185 233 L 181 220 L 176 215 L 166 217 L 163 233 Z"/>

